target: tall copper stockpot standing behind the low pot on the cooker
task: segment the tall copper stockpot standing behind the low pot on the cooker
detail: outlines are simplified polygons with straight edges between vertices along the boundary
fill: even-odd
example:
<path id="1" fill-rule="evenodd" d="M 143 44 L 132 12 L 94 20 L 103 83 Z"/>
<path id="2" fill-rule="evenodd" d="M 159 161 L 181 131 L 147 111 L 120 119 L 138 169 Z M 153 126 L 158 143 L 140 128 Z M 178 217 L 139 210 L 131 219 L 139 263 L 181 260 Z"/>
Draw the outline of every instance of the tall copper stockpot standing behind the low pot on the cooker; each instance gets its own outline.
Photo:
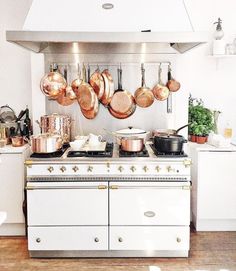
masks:
<path id="1" fill-rule="evenodd" d="M 63 143 L 69 143 L 71 139 L 71 118 L 67 115 L 45 115 L 40 118 L 42 133 L 57 134 L 63 139 Z"/>

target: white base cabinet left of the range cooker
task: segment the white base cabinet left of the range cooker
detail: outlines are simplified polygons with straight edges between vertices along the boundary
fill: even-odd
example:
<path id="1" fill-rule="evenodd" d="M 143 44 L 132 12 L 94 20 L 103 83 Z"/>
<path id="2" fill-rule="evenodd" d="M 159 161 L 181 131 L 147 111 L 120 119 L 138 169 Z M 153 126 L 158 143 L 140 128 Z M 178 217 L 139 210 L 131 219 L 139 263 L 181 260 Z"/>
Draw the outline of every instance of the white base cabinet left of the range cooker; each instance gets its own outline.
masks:
<path id="1" fill-rule="evenodd" d="M 0 235 L 24 235 L 24 161 L 29 148 L 6 147 L 0 151 L 0 210 L 7 219 L 0 227 Z"/>

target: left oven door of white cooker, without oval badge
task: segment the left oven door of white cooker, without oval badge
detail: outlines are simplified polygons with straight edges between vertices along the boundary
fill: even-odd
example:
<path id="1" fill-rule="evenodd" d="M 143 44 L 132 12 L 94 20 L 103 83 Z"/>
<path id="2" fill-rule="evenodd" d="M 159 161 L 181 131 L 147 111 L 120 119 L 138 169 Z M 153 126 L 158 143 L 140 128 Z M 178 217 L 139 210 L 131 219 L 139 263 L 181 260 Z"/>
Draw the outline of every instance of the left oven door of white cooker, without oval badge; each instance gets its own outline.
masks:
<path id="1" fill-rule="evenodd" d="M 27 184 L 28 226 L 108 225 L 107 182 Z"/>

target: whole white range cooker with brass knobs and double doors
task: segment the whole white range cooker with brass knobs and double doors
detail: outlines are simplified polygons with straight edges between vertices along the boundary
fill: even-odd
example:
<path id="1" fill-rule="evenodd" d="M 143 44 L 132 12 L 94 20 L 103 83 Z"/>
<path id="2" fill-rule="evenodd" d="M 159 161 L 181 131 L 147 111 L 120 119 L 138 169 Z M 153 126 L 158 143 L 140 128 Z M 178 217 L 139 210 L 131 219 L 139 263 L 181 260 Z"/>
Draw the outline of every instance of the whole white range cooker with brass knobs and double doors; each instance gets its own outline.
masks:
<path id="1" fill-rule="evenodd" d="M 104 153 L 33 154 L 25 162 L 30 256 L 187 257 L 191 160 L 149 144 L 138 156 L 112 144 Z"/>

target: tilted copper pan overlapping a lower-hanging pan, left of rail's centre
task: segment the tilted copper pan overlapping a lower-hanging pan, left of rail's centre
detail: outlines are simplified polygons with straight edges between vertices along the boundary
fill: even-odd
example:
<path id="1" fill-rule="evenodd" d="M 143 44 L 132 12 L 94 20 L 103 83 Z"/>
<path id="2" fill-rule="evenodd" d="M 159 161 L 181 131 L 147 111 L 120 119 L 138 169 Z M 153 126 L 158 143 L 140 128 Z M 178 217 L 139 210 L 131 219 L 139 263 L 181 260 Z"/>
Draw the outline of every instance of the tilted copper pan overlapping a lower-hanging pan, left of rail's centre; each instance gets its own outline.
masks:
<path id="1" fill-rule="evenodd" d="M 83 79 L 82 83 L 78 87 L 77 101 L 83 110 L 92 110 L 95 105 L 95 97 L 97 96 L 93 88 L 85 81 L 86 80 L 86 69 L 83 65 Z"/>

